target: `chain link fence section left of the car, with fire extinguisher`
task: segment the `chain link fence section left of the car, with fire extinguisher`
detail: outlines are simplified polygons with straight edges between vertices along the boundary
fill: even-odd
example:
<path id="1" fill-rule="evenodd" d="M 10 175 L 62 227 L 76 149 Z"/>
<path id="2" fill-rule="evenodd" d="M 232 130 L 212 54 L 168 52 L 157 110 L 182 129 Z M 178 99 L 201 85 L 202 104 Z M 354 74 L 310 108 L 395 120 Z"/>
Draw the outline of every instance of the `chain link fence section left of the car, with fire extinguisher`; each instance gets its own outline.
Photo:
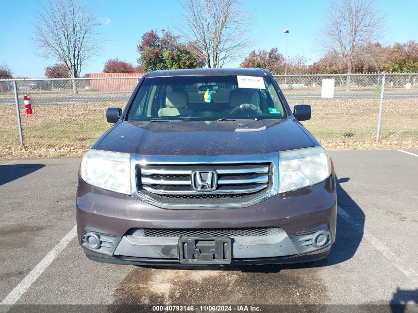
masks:
<path id="1" fill-rule="evenodd" d="M 125 107 L 137 83 L 138 78 L 0 81 L 0 157 L 83 154 L 111 126 L 106 109 Z M 25 111 L 25 94 L 29 94 L 31 115 Z"/>

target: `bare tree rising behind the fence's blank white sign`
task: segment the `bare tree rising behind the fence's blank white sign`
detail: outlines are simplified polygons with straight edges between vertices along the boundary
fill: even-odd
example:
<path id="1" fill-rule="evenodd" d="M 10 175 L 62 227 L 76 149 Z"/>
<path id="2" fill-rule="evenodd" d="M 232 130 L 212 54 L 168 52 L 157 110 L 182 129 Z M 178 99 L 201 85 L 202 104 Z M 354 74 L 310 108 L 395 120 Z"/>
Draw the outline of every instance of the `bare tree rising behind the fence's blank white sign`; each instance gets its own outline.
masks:
<path id="1" fill-rule="evenodd" d="M 376 63 L 379 56 L 373 45 L 384 31 L 384 17 L 373 0 L 333 0 L 325 17 L 318 44 L 325 52 L 337 55 L 351 74 L 356 62 Z M 350 76 L 347 77 L 350 88 Z"/>

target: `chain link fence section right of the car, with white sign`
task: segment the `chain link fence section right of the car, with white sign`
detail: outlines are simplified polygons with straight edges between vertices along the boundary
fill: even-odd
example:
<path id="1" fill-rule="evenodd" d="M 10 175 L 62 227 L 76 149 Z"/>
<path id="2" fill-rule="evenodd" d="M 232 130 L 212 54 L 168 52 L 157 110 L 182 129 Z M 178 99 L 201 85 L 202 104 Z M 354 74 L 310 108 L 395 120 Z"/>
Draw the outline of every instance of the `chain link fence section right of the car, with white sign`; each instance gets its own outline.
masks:
<path id="1" fill-rule="evenodd" d="M 418 74 L 275 78 L 291 107 L 299 103 L 312 106 L 312 119 L 302 124 L 325 147 L 417 145 Z"/>

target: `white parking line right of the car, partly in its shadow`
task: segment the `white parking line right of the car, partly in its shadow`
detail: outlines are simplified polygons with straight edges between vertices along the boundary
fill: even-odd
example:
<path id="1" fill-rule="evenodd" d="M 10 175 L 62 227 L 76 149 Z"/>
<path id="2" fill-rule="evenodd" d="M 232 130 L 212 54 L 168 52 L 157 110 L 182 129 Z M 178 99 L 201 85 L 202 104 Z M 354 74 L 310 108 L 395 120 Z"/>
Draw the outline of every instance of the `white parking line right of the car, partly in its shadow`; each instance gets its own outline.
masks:
<path id="1" fill-rule="evenodd" d="M 418 274 L 412 269 L 406 262 L 399 259 L 389 248 L 381 243 L 376 237 L 372 235 L 366 228 L 358 224 L 346 211 L 337 207 L 337 213 L 348 223 L 352 224 L 356 230 L 362 234 L 363 237 L 369 241 L 374 248 L 376 248 L 381 254 L 383 254 L 389 261 L 399 268 L 412 282 L 418 284 Z"/>

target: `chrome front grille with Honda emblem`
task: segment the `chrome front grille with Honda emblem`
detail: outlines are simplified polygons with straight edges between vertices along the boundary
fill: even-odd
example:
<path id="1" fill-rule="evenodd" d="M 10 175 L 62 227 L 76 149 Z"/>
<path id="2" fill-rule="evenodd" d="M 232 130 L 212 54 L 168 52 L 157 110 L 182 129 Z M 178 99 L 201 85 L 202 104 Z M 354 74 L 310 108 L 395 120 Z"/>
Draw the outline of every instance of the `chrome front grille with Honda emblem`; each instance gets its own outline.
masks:
<path id="1" fill-rule="evenodd" d="M 246 207 L 277 194 L 278 163 L 277 152 L 207 156 L 132 154 L 133 196 L 162 208 Z M 212 179 L 210 183 L 208 179 Z"/>

